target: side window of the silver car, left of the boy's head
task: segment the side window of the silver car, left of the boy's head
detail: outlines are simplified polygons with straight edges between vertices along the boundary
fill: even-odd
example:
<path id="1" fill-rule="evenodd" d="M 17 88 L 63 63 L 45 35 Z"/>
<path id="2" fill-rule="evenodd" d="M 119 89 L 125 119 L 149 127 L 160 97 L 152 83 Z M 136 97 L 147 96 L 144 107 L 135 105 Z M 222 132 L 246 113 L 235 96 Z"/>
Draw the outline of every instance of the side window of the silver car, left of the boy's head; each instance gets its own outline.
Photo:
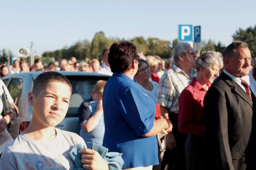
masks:
<path id="1" fill-rule="evenodd" d="M 23 79 L 19 79 L 19 78 L 13 78 L 8 86 L 8 90 L 16 106 L 19 105 L 22 86 L 23 86 Z"/>

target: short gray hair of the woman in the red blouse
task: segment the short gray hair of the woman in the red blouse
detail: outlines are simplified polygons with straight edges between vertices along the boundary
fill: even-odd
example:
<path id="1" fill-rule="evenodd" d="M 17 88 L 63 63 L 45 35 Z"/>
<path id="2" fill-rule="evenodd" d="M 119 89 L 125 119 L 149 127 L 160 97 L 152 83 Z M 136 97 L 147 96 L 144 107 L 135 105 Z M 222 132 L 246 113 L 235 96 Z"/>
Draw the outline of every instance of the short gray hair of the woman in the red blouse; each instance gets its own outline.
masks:
<path id="1" fill-rule="evenodd" d="M 196 69 L 200 71 L 200 66 L 209 68 L 215 64 L 219 65 L 219 69 L 223 68 L 223 56 L 220 52 L 207 51 L 203 52 L 196 60 Z"/>

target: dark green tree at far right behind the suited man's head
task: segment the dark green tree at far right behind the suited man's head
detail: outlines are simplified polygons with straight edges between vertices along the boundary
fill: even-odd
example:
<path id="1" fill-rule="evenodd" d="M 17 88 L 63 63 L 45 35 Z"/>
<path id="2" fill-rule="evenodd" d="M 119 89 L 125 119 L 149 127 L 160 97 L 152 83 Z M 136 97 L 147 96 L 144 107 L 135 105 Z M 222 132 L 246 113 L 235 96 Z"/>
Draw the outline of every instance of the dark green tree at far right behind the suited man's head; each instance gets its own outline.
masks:
<path id="1" fill-rule="evenodd" d="M 256 26 L 254 28 L 249 27 L 245 30 L 239 28 L 232 37 L 234 40 L 244 41 L 247 43 L 252 57 L 256 56 Z"/>

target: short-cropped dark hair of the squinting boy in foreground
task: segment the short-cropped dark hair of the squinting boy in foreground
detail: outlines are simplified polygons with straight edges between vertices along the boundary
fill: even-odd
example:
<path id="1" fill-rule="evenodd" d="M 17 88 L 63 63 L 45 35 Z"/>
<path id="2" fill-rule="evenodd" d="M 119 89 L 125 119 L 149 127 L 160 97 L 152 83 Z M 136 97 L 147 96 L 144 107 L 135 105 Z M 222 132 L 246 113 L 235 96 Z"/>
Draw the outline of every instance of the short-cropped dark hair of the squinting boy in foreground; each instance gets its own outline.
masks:
<path id="1" fill-rule="evenodd" d="M 38 75 L 34 81 L 32 93 L 37 97 L 40 91 L 49 83 L 60 82 L 67 84 L 70 87 L 70 92 L 72 92 L 72 86 L 70 81 L 63 75 L 56 71 L 46 71 Z"/>

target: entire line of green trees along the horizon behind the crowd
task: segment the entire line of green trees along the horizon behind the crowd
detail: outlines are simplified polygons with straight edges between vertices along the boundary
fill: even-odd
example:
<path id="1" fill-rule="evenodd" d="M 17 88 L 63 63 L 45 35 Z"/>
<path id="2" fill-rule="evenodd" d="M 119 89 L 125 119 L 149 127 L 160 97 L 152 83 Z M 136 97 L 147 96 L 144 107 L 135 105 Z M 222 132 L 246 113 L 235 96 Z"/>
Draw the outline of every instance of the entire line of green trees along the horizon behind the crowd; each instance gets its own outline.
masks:
<path id="1" fill-rule="evenodd" d="M 252 57 L 256 56 L 256 26 L 249 27 L 245 30 L 239 28 L 233 35 L 233 40 L 241 40 L 248 44 Z M 97 58 L 101 60 L 101 53 L 106 47 L 110 47 L 116 41 L 131 41 L 136 47 L 138 53 L 143 53 L 146 55 L 159 55 L 161 58 L 170 58 L 172 56 L 172 49 L 178 44 L 178 40 L 174 39 L 172 41 L 162 40 L 157 37 L 134 37 L 131 39 L 120 39 L 118 37 L 106 37 L 103 31 L 99 31 L 95 34 L 92 41 L 88 39 L 79 40 L 74 45 L 68 47 L 65 46 L 62 49 L 55 51 L 45 51 L 42 54 L 43 61 L 51 61 L 51 57 L 59 61 L 62 58 L 70 58 L 74 56 L 77 60 L 87 60 Z M 209 39 L 208 41 L 203 40 L 201 42 L 203 51 L 219 51 L 221 52 L 225 49 L 220 41 L 215 43 L 215 41 Z M 0 61 L 6 62 L 7 57 L 13 56 L 12 52 L 6 49 L 0 50 Z M 37 57 L 35 57 L 37 58 Z"/>

